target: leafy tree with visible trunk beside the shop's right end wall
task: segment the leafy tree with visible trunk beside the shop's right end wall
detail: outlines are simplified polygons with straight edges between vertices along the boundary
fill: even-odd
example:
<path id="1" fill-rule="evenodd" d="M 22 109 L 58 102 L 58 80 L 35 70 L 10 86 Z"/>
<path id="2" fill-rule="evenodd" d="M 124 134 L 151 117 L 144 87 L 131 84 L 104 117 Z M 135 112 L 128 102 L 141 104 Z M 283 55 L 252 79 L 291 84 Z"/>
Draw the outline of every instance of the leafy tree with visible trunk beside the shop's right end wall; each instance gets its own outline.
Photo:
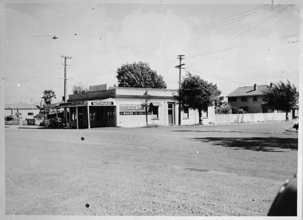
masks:
<path id="1" fill-rule="evenodd" d="M 187 77 L 182 80 L 179 94 L 175 99 L 187 105 L 189 108 L 197 109 L 199 114 L 199 123 L 202 122 L 202 110 L 213 106 L 221 91 L 218 90 L 217 85 L 213 85 L 199 76 L 187 73 Z"/>

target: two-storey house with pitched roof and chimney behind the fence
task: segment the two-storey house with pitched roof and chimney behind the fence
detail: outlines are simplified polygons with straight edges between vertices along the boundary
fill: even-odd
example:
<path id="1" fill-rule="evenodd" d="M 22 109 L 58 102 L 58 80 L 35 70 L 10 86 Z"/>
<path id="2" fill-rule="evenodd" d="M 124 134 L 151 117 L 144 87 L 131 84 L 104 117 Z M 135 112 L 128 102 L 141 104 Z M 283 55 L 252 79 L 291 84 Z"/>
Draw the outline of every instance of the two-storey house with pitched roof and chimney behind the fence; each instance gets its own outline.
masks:
<path id="1" fill-rule="evenodd" d="M 267 89 L 267 85 L 239 87 L 227 95 L 228 103 L 231 106 L 242 108 L 247 113 L 270 112 L 262 108 L 262 91 Z"/>

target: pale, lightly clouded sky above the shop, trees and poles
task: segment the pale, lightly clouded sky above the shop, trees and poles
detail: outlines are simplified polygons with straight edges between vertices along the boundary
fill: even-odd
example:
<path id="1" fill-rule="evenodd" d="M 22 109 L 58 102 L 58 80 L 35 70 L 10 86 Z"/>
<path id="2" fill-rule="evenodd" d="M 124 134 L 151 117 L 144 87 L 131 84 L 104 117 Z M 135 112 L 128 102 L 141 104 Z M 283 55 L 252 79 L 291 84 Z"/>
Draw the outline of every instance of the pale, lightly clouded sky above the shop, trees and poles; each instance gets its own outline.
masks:
<path id="1" fill-rule="evenodd" d="M 182 77 L 197 74 L 223 96 L 254 83 L 299 86 L 296 5 L 6 3 L 4 23 L 6 102 L 40 102 L 45 89 L 61 101 L 62 55 L 72 57 L 67 94 L 78 83 L 117 85 L 117 68 L 134 61 L 149 63 L 177 89 L 179 54 Z"/>

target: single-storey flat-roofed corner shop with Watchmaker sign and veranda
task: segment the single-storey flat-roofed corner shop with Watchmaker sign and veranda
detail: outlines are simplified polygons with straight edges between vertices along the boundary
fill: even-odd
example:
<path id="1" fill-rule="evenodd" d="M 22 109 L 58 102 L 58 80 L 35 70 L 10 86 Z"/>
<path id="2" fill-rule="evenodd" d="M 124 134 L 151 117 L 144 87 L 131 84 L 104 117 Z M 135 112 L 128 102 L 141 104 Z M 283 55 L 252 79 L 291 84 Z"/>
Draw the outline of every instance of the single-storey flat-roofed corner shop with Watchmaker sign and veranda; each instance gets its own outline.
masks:
<path id="1" fill-rule="evenodd" d="M 91 86 L 83 94 L 70 94 L 67 121 L 76 128 L 178 125 L 177 90 Z M 213 121 L 214 108 L 202 112 L 203 123 Z M 198 110 L 183 108 L 181 125 L 198 123 Z"/>

